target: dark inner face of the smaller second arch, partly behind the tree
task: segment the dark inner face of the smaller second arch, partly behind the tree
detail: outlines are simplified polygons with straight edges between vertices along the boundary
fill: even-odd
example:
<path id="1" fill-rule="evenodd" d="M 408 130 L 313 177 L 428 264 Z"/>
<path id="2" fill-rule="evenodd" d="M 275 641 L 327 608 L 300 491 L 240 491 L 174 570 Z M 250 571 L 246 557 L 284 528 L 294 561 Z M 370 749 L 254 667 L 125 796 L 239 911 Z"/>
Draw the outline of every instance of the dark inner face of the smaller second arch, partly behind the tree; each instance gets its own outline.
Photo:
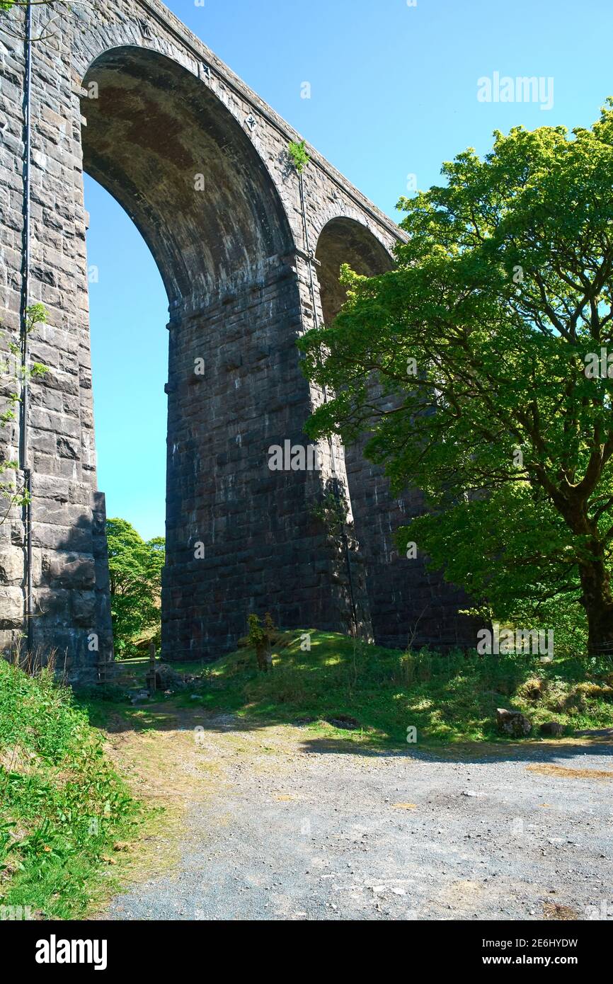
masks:
<path id="1" fill-rule="evenodd" d="M 365 277 L 392 270 L 388 250 L 361 222 L 340 216 L 322 229 L 316 249 L 324 321 L 330 325 L 346 299 L 338 282 L 341 264 Z M 377 400 L 373 386 L 373 399 Z M 393 496 L 383 468 L 364 457 L 367 437 L 344 449 L 355 535 L 366 566 L 366 590 L 375 642 L 404 648 L 474 646 L 473 623 L 458 614 L 467 605 L 463 593 L 431 573 L 418 551 L 414 559 L 398 554 L 395 533 L 423 512 L 418 488 Z M 418 480 L 418 476 L 415 476 Z"/>

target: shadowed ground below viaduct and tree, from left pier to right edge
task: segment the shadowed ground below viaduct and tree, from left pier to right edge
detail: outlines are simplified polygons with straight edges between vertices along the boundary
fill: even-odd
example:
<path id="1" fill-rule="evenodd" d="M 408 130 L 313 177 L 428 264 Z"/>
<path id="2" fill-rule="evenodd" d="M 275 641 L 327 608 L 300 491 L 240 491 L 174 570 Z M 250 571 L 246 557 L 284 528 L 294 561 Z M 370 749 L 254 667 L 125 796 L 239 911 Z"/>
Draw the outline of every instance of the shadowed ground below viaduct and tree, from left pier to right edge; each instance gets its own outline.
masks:
<path id="1" fill-rule="evenodd" d="M 300 645 L 305 636 L 308 651 Z M 316 630 L 279 633 L 277 644 L 268 674 L 259 673 L 255 653 L 242 648 L 209 664 L 192 690 L 171 698 L 134 707 L 93 698 L 84 706 L 92 724 L 113 733 L 299 725 L 298 747 L 314 755 L 470 763 L 578 760 L 613 752 L 610 736 L 576 737 L 581 728 L 613 724 L 610 663 L 566 658 L 542 665 L 537 657 L 400 652 Z M 174 665 L 189 673 L 185 664 Z M 144 661 L 139 674 L 145 667 Z M 498 735 L 497 707 L 526 713 L 532 736 L 518 741 Z M 354 719 L 354 730 L 334 726 L 347 717 Z M 552 719 L 563 724 L 566 737 L 539 738 L 539 724 Z M 417 730 L 416 745 L 405 742 L 407 725 Z"/>

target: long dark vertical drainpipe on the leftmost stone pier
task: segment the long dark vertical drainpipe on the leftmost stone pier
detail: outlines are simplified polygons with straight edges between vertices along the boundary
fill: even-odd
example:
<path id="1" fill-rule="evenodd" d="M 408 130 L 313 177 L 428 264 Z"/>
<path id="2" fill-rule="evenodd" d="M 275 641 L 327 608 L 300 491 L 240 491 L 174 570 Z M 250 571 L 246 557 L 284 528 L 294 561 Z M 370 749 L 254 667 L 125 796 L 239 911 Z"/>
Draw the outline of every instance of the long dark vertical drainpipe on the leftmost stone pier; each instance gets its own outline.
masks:
<path id="1" fill-rule="evenodd" d="M 28 447 L 28 416 L 30 404 L 30 385 L 28 380 L 28 308 L 30 306 L 30 185 L 31 185 L 31 4 L 26 8 L 26 37 L 24 40 L 26 55 L 26 80 L 24 86 L 24 261 L 22 268 L 22 309 L 21 309 L 21 344 L 22 367 L 22 399 L 20 408 L 20 468 L 24 472 L 24 490 L 28 502 L 23 510 L 25 530 L 25 561 L 24 572 L 24 618 L 28 637 L 28 650 L 32 648 L 32 598 L 31 598 L 31 469 Z"/>

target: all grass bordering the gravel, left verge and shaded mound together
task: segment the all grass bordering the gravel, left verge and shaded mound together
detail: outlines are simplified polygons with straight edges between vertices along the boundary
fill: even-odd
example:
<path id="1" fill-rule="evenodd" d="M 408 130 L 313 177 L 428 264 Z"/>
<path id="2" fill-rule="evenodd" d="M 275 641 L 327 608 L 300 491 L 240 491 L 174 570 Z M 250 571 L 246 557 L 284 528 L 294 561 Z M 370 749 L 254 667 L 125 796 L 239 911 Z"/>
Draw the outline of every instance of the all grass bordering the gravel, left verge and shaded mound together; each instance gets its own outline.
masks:
<path id="1" fill-rule="evenodd" d="M 45 919 L 99 908 L 120 879 L 139 879 L 143 852 L 130 853 L 146 817 L 147 840 L 170 858 L 172 830 L 195 784 L 202 795 L 215 789 L 215 769 L 196 776 L 182 769 L 193 734 L 181 722 L 207 711 L 232 712 L 251 729 L 301 722 L 318 737 L 373 750 L 406 748 L 411 726 L 418 747 L 516 741 L 498 734 L 497 707 L 527 714 L 528 741 L 540 740 L 538 725 L 550 720 L 568 736 L 613 727 L 613 667 L 605 659 L 401 652 L 315 630 L 303 651 L 304 635 L 278 633 L 270 673 L 258 670 L 249 647 L 205 667 L 176 663 L 189 687 L 135 707 L 127 688 L 143 687 L 148 659 L 122 662 L 112 686 L 76 697 L 50 671 L 29 675 L 0 659 L 0 905 L 29 906 Z M 128 781 L 150 806 L 135 801 Z M 163 828 L 152 822 L 156 813 Z"/>

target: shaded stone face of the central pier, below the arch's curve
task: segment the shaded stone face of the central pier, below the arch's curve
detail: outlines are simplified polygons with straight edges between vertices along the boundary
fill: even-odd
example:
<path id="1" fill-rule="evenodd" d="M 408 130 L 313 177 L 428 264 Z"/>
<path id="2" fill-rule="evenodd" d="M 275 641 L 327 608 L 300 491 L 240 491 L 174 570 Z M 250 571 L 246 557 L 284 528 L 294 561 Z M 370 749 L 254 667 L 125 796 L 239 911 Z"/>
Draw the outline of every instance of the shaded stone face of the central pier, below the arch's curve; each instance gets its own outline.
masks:
<path id="1" fill-rule="evenodd" d="M 344 560 L 313 517 L 325 454 L 321 474 L 269 468 L 271 446 L 305 444 L 295 264 L 276 258 L 251 287 L 169 325 L 162 647 L 170 657 L 233 646 L 250 611 L 270 611 L 283 626 L 351 630 Z M 198 358 L 204 375 L 194 371 Z"/>

